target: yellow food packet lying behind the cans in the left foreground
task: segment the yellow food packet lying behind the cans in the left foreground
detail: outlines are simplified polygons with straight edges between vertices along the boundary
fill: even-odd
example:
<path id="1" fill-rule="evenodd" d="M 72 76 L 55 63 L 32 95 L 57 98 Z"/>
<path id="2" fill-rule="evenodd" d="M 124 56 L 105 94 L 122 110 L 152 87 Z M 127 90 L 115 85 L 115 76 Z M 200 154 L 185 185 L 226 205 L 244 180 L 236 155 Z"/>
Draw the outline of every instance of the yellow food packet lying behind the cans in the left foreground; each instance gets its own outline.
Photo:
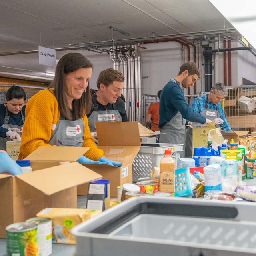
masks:
<path id="1" fill-rule="evenodd" d="M 90 219 L 88 209 L 45 208 L 36 214 L 37 217 L 52 220 L 52 242 L 75 244 L 76 238 L 70 230 L 74 226 Z"/>

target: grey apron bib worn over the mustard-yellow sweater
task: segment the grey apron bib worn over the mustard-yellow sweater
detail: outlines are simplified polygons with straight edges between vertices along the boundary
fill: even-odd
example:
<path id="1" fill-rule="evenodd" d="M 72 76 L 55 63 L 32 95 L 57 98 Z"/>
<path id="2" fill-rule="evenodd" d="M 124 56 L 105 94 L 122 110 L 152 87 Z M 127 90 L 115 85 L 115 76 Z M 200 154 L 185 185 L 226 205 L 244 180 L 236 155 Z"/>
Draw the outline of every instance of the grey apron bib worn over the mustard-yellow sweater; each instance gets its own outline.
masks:
<path id="1" fill-rule="evenodd" d="M 82 147 L 84 142 L 84 121 L 65 120 L 60 115 L 56 128 L 48 144 L 66 147 Z"/>

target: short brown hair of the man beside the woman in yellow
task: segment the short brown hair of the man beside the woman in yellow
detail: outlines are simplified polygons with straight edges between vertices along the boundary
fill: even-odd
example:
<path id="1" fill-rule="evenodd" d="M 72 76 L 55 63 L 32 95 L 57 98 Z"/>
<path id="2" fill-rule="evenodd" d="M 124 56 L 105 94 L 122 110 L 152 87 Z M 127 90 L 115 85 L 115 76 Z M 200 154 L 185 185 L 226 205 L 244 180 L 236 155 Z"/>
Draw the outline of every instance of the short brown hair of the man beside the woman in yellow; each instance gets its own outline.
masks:
<path id="1" fill-rule="evenodd" d="M 97 87 L 100 88 L 100 84 L 104 84 L 108 86 L 114 81 L 124 82 L 124 75 L 113 68 L 107 68 L 106 70 L 102 70 L 97 79 Z"/>

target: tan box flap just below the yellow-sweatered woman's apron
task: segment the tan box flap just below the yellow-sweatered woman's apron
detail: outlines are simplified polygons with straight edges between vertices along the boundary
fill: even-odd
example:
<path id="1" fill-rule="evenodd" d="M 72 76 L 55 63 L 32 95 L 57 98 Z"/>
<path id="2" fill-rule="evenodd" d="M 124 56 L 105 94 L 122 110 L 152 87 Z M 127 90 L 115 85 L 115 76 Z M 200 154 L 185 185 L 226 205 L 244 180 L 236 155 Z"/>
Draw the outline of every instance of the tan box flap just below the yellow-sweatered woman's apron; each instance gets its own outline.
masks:
<path id="1" fill-rule="evenodd" d="M 29 154 L 26 160 L 70 161 L 74 162 L 90 148 L 84 147 L 46 147 L 40 146 Z"/>

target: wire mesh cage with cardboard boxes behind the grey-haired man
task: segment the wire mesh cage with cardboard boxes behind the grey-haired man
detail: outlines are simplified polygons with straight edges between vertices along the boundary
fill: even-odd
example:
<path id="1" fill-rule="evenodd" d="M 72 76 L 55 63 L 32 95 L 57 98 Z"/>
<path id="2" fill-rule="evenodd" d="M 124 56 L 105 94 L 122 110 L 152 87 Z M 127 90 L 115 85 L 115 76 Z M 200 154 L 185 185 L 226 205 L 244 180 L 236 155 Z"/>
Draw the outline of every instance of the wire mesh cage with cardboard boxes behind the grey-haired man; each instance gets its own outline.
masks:
<path id="1" fill-rule="evenodd" d="M 224 112 L 232 130 L 256 130 L 256 86 L 227 86 Z"/>

